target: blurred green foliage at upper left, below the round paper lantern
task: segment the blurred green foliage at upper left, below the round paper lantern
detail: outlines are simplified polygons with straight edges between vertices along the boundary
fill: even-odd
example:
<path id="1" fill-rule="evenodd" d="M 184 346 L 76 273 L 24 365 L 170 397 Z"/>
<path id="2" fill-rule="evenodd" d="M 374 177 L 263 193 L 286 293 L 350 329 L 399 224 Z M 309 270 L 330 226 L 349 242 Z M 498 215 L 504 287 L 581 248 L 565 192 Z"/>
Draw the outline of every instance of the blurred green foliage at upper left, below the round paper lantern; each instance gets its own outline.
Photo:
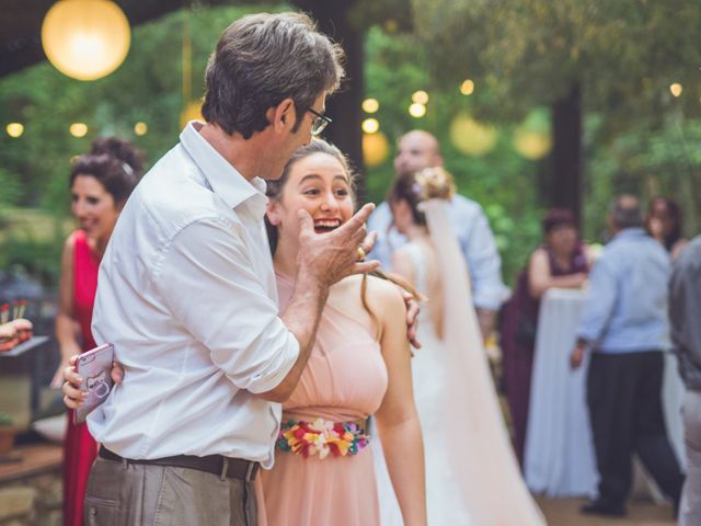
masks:
<path id="1" fill-rule="evenodd" d="M 280 9 L 279 7 L 266 5 Z M 84 153 L 92 139 L 116 135 L 130 139 L 156 161 L 177 141 L 182 95 L 182 47 L 185 23 L 192 38 L 192 96 L 203 92 L 207 58 L 231 21 L 257 7 L 179 11 L 133 28 L 129 55 L 112 75 L 81 82 L 48 62 L 0 80 L 0 123 L 19 122 L 24 134 L 0 132 L 0 267 L 21 265 L 35 277 L 56 283 L 69 216 L 68 178 L 72 157 Z M 71 123 L 88 125 L 85 137 L 69 134 Z M 136 136 L 145 122 L 148 134 Z M 38 208 L 56 219 L 54 227 L 27 233 L 10 205 Z M 22 221 L 20 221 L 22 222 Z"/>

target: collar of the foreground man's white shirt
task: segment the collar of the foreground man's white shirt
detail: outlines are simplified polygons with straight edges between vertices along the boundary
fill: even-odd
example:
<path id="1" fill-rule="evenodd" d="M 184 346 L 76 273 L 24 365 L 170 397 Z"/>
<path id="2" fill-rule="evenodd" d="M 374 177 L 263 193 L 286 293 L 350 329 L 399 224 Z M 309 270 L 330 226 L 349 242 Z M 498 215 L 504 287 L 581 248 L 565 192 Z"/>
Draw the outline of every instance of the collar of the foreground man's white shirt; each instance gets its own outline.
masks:
<path id="1" fill-rule="evenodd" d="M 220 196 L 230 208 L 235 208 L 251 199 L 256 210 L 265 213 L 265 181 L 253 178 L 250 182 L 227 161 L 199 134 L 203 123 L 191 121 L 180 134 L 180 141 L 195 164 L 205 174 L 215 194 Z"/>

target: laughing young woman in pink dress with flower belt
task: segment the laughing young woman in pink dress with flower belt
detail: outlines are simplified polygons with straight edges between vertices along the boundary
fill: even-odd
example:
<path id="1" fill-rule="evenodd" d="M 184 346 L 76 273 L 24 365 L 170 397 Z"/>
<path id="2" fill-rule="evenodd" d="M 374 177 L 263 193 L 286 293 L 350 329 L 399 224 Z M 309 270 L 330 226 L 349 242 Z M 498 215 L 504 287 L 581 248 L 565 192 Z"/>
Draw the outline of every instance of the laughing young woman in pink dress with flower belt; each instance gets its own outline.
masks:
<path id="1" fill-rule="evenodd" d="M 314 140 L 268 182 L 267 221 L 280 309 L 295 286 L 299 210 L 318 233 L 353 215 L 343 155 Z M 412 393 L 405 305 L 397 285 L 350 276 L 332 287 L 301 380 L 283 404 L 275 466 L 262 474 L 262 523 L 380 523 L 367 419 L 374 414 L 405 525 L 426 524 L 423 443 Z"/>

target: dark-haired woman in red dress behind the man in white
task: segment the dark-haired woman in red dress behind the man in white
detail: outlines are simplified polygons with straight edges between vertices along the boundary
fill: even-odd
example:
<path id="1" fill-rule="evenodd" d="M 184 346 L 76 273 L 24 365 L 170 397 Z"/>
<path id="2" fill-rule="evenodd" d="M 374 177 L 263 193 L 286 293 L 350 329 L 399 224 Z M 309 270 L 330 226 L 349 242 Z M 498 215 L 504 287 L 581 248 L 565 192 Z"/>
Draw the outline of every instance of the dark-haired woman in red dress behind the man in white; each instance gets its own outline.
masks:
<path id="1" fill-rule="evenodd" d="M 142 173 L 140 153 L 127 141 L 106 138 L 93 142 L 89 155 L 71 167 L 71 211 L 80 228 L 64 245 L 56 338 L 61 363 L 53 386 L 59 387 L 73 354 L 95 346 L 90 324 L 97 288 L 100 260 L 129 194 Z M 72 413 L 72 411 L 70 411 Z M 64 524 L 83 524 L 83 498 L 97 446 L 85 424 L 68 415 L 64 442 Z"/>

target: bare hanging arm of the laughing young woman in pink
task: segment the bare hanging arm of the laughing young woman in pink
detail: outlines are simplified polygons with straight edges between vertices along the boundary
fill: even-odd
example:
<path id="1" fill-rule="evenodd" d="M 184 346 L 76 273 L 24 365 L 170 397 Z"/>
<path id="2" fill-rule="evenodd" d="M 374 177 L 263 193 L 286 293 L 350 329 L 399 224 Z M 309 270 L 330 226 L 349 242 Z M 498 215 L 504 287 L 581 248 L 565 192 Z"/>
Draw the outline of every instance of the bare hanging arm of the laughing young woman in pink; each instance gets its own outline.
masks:
<path id="1" fill-rule="evenodd" d="M 374 311 L 379 313 L 382 325 L 380 343 L 389 382 L 382 405 L 376 413 L 377 424 L 404 524 L 425 525 L 424 445 L 414 404 L 404 301 L 397 287 L 387 282 L 379 285 L 370 295 Z"/>

